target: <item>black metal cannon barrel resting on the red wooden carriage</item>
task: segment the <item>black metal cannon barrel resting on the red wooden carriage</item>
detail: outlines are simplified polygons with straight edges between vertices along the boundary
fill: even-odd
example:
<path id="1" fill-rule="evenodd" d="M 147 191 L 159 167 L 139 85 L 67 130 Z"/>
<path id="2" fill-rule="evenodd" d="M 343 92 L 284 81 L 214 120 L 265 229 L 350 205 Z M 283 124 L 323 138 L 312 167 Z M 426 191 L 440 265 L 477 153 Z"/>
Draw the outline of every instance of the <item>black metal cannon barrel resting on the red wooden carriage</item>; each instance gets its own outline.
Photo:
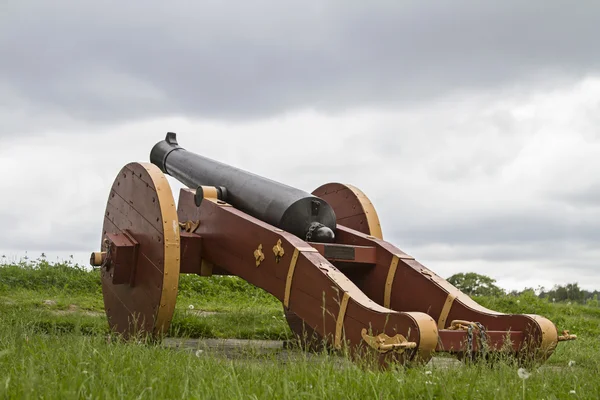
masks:
<path id="1" fill-rule="evenodd" d="M 225 187 L 229 204 L 303 240 L 335 239 L 335 212 L 325 200 L 189 152 L 179 146 L 173 132 L 152 148 L 150 162 L 191 189 Z"/>

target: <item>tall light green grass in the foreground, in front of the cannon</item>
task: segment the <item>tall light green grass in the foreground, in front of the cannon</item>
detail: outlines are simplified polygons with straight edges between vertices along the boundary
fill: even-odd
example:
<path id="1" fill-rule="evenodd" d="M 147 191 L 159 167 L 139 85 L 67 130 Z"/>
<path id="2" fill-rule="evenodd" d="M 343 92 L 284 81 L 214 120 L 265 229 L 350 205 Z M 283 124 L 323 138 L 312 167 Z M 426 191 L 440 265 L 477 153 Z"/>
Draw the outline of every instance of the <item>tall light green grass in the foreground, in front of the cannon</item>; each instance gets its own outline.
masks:
<path id="1" fill-rule="evenodd" d="M 377 372 L 336 355 L 275 350 L 231 358 L 101 335 L 40 334 L 27 315 L 9 317 L 0 324 L 2 399 L 519 399 L 523 383 L 528 399 L 600 396 L 598 361 L 534 369 L 526 382 L 510 363 Z"/>

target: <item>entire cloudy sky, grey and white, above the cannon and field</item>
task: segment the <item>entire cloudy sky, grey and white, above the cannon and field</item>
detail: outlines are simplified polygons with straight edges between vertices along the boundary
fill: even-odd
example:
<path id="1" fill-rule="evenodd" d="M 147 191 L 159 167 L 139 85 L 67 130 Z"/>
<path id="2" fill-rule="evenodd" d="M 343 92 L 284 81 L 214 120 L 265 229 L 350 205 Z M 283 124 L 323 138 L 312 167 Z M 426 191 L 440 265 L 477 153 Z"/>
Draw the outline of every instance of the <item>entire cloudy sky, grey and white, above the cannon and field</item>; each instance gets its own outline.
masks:
<path id="1" fill-rule="evenodd" d="M 0 254 L 87 263 L 116 173 L 174 131 L 307 191 L 360 187 L 444 277 L 600 289 L 599 19 L 592 0 L 3 0 Z"/>

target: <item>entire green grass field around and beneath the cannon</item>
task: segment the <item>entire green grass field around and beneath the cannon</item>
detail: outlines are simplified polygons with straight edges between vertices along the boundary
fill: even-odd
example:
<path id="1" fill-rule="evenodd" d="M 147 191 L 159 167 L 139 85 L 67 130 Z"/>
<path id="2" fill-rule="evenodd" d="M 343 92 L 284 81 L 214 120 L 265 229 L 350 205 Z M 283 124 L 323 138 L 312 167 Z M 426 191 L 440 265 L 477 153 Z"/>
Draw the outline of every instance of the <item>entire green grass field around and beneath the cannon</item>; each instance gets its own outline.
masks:
<path id="1" fill-rule="evenodd" d="M 535 296 L 476 298 L 535 313 L 579 336 L 523 381 L 511 362 L 438 363 L 386 372 L 334 354 L 246 348 L 235 355 L 108 335 L 99 274 L 70 264 L 0 266 L 0 398 L 598 399 L 600 308 Z M 274 297 L 238 278 L 182 276 L 169 336 L 286 340 Z M 171 340 L 171 344 L 175 341 Z M 444 361 L 444 359 L 442 359 Z M 525 384 L 525 386 L 523 385 Z"/>

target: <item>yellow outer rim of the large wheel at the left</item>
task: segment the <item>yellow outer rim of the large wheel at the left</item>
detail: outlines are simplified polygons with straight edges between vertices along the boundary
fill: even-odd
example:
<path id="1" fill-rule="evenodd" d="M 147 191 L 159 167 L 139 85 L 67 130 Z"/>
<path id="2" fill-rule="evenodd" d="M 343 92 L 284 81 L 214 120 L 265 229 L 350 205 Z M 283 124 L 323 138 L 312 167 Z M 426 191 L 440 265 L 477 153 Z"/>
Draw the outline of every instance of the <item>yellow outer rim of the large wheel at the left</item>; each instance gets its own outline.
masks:
<path id="1" fill-rule="evenodd" d="M 144 167 L 154 183 L 158 205 L 163 221 L 164 251 L 163 284 L 160 306 L 156 316 L 154 334 L 166 334 L 171 324 L 177 301 L 179 286 L 181 242 L 179 237 L 179 219 L 171 186 L 165 175 L 154 164 L 137 163 Z"/>

